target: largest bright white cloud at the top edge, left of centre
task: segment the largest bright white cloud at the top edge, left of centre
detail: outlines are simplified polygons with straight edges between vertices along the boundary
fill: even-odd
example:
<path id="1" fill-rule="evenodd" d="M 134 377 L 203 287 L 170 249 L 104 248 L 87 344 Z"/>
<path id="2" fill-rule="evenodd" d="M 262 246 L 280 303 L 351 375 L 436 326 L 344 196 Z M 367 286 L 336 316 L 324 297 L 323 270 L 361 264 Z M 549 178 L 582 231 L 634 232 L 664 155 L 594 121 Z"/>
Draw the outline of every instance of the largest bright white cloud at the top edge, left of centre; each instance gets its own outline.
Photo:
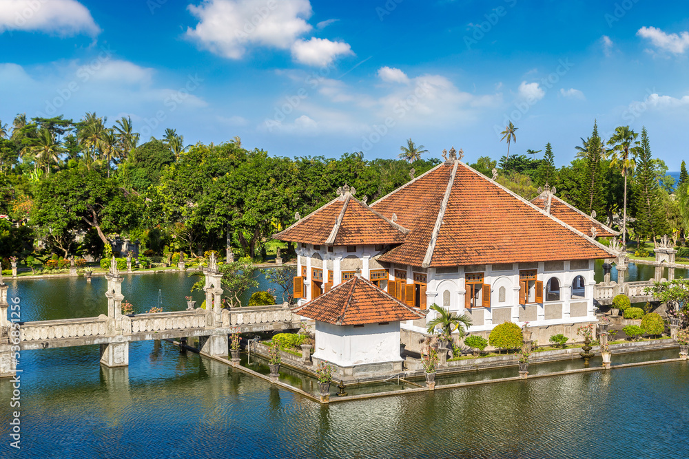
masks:
<path id="1" fill-rule="evenodd" d="M 250 45 L 287 49 L 311 30 L 309 0 L 205 0 L 188 8 L 199 22 L 187 28 L 187 36 L 232 59 L 241 58 Z"/>

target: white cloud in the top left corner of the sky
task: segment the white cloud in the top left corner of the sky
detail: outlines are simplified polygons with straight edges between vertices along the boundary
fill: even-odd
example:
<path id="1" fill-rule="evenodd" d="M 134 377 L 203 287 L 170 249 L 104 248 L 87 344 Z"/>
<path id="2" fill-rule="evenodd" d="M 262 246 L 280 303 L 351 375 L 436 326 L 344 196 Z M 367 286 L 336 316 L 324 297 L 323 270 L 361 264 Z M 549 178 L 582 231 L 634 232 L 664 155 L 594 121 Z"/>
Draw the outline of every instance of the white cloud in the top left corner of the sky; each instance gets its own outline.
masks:
<path id="1" fill-rule="evenodd" d="M 97 35 L 88 8 L 76 0 L 3 0 L 0 2 L 0 34 L 6 30 L 49 32 L 63 36 Z"/>

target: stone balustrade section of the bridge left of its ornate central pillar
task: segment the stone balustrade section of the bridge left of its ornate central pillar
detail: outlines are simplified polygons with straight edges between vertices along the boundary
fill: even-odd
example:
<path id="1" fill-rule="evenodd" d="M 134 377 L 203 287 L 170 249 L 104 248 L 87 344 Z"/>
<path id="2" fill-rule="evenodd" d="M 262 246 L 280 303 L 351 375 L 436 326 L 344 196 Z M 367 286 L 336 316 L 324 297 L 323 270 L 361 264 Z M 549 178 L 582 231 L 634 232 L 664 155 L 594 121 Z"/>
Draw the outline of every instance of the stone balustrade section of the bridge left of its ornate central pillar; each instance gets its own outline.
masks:
<path id="1" fill-rule="evenodd" d="M 107 316 L 22 323 L 20 341 L 107 336 Z"/>

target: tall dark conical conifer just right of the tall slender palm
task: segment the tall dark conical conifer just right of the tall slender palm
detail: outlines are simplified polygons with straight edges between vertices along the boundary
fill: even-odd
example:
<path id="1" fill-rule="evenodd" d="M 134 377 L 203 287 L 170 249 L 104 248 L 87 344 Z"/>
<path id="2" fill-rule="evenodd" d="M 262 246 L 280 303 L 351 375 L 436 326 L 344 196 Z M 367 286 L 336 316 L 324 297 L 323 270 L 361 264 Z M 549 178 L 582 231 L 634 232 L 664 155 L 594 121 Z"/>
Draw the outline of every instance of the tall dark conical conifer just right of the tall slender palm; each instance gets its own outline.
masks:
<path id="1" fill-rule="evenodd" d="M 655 164 L 651 158 L 646 127 L 641 129 L 641 145 L 636 147 L 637 167 L 633 184 L 635 204 L 635 231 L 639 241 L 668 232 L 666 215 L 661 209 Z"/>

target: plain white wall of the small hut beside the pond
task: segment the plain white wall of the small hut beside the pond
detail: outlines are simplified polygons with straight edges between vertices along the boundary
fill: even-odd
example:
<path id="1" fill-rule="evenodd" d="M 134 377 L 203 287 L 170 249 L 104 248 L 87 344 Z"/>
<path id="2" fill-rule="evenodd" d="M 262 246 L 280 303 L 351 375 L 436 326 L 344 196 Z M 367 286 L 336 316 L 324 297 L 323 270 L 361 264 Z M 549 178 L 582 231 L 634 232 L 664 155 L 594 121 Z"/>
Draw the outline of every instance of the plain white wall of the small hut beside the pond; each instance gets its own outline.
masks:
<path id="1" fill-rule="evenodd" d="M 400 322 L 363 327 L 331 325 L 316 321 L 316 359 L 351 367 L 364 363 L 402 361 Z"/>

